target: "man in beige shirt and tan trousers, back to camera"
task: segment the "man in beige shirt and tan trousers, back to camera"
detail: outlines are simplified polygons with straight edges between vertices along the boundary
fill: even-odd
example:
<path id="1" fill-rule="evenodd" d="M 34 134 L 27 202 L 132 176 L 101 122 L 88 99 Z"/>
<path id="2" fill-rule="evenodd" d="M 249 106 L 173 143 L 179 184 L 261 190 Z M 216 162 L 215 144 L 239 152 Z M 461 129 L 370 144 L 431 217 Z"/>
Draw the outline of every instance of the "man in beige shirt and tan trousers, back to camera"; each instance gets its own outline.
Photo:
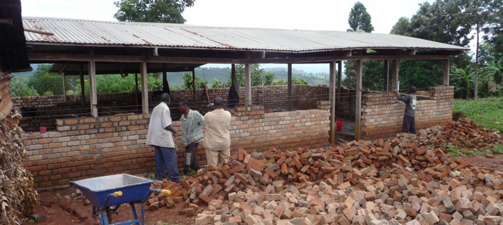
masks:
<path id="1" fill-rule="evenodd" d="M 208 165 L 227 163 L 230 156 L 230 113 L 223 109 L 224 100 L 217 97 L 213 100 L 213 111 L 203 117 L 204 148 Z"/>

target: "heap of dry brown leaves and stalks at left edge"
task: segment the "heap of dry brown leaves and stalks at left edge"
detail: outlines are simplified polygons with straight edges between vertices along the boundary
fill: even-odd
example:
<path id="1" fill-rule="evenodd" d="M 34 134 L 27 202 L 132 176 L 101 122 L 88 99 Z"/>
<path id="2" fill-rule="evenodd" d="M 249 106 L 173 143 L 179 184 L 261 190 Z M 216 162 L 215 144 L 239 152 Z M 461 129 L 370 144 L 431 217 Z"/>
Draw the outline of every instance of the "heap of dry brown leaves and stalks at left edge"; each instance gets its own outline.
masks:
<path id="1" fill-rule="evenodd" d="M 37 199 L 31 173 L 22 163 L 26 149 L 20 119 L 11 111 L 0 120 L 0 224 L 20 224 L 22 215 L 33 214 Z"/>

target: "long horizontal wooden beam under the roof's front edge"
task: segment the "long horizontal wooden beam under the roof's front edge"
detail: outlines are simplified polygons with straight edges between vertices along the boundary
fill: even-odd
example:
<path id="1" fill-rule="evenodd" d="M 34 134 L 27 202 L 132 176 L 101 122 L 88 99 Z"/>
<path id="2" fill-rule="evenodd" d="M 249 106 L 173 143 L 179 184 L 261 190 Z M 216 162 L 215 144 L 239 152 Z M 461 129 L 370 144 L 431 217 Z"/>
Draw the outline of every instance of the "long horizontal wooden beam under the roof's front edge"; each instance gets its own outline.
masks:
<path id="1" fill-rule="evenodd" d="M 59 61 L 122 62 L 122 63 L 328 63 L 334 60 L 443 60 L 449 55 L 352 55 L 330 57 L 291 57 L 291 58 L 201 58 L 201 57 L 144 57 L 142 55 L 89 55 L 66 53 L 28 53 L 30 63 Z"/>

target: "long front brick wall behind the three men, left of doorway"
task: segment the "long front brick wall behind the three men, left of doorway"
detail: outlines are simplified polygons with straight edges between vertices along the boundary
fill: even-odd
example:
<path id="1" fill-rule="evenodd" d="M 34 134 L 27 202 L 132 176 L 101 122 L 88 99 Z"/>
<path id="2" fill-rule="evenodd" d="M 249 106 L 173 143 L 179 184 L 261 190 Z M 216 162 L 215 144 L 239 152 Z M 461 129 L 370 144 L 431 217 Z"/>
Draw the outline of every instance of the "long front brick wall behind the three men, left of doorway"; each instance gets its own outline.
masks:
<path id="1" fill-rule="evenodd" d="M 231 154 L 237 149 L 265 151 L 327 146 L 330 103 L 318 109 L 264 113 L 263 106 L 235 108 L 230 126 Z M 33 173 L 35 188 L 67 185 L 70 180 L 118 173 L 154 171 L 153 148 L 145 145 L 150 115 L 103 116 L 57 120 L 57 131 L 25 134 L 25 165 Z M 180 131 L 180 121 L 173 122 Z M 181 136 L 176 140 L 181 146 Z M 184 150 L 178 153 L 179 166 Z M 206 164 L 204 148 L 198 160 Z"/>

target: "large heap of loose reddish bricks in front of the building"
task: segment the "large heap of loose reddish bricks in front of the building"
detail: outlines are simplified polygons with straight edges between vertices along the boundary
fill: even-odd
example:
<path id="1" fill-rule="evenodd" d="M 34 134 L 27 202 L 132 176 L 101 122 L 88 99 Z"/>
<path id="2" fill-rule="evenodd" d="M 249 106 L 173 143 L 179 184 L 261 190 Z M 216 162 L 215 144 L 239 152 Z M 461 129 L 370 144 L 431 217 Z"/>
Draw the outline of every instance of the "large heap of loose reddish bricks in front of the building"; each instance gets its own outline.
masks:
<path id="1" fill-rule="evenodd" d="M 196 224 L 499 224 L 502 174 L 448 158 L 438 144 L 449 134 L 479 147 L 502 143 L 497 132 L 462 119 L 418 136 L 333 148 L 239 149 L 229 163 L 178 184 L 154 182 L 172 194 L 153 196 L 148 209 L 185 202 L 180 214 L 191 216 L 207 204 Z"/>

